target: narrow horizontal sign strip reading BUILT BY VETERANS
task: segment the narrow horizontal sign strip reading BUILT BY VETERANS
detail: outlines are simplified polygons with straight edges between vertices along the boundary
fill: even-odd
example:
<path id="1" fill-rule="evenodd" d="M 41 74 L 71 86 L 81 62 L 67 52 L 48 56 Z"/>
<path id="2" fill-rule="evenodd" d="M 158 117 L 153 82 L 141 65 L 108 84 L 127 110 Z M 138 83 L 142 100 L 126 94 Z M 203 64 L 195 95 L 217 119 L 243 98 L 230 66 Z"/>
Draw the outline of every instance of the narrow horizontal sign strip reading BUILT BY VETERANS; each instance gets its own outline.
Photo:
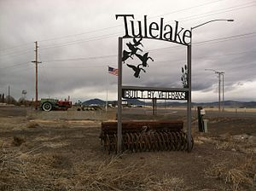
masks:
<path id="1" fill-rule="evenodd" d="M 187 100 L 188 95 L 185 91 L 122 90 L 122 97 L 126 99 Z"/>

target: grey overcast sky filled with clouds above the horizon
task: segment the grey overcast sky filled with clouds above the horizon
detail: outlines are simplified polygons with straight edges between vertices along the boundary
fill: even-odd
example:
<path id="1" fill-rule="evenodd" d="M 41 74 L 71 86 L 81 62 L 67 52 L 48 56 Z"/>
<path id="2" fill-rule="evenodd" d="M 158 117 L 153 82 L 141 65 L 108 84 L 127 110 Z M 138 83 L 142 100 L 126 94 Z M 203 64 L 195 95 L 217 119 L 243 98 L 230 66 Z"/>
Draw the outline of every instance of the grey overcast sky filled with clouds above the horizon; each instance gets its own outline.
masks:
<path id="1" fill-rule="evenodd" d="M 118 37 L 125 35 L 122 19 L 193 30 L 192 101 L 218 101 L 218 76 L 224 72 L 225 100 L 256 101 L 256 1 L 255 0 L 0 0 L 0 94 L 19 99 L 35 97 L 35 41 L 38 41 L 39 98 L 72 101 L 117 99 Z M 127 41 L 127 40 L 126 40 Z M 126 42 L 125 41 L 125 42 Z M 126 42 L 128 43 L 129 40 Z M 125 43 L 124 43 L 125 44 Z M 124 49 L 127 49 L 124 45 Z M 124 84 L 182 87 L 181 68 L 186 48 L 176 43 L 143 39 L 148 60 L 146 72 L 134 78 L 124 65 Z"/>

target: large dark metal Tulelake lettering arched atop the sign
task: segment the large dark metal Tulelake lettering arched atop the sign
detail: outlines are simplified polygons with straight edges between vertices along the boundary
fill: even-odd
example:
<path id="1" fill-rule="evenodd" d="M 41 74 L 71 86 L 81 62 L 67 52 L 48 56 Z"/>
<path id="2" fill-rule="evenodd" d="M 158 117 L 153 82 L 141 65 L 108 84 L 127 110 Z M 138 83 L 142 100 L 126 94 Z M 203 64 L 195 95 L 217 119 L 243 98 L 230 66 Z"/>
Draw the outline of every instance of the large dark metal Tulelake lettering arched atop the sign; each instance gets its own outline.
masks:
<path id="1" fill-rule="evenodd" d="M 144 15 L 143 21 L 134 20 L 134 14 L 116 14 L 115 17 L 124 20 L 123 38 L 154 38 L 184 45 L 189 45 L 191 42 L 191 31 L 179 27 L 177 20 L 175 25 L 171 26 L 164 23 L 164 18 L 160 18 L 159 23 L 148 22 L 147 15 Z"/>

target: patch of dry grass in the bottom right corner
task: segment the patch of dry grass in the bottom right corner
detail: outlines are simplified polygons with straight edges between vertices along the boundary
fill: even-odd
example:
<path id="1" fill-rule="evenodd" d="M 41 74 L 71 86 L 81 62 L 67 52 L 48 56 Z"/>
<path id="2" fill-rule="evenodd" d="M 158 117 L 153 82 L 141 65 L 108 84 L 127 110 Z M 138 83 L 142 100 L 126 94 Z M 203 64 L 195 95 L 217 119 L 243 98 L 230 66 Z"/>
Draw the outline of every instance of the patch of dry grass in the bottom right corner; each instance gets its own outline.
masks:
<path id="1" fill-rule="evenodd" d="M 235 161 L 223 161 L 221 163 L 212 162 L 206 169 L 209 177 L 216 177 L 230 183 L 233 191 L 248 188 L 253 190 L 256 186 L 256 163 L 253 157 L 240 161 L 238 165 Z"/>

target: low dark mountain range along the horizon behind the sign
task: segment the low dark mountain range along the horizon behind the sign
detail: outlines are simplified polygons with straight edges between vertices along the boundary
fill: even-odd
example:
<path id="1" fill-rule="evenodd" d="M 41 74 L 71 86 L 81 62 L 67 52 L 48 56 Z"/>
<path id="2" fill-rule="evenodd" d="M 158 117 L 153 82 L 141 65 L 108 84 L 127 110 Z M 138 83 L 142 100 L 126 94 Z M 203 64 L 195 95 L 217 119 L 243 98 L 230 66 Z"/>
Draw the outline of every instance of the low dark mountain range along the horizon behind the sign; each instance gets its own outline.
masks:
<path id="1" fill-rule="evenodd" d="M 144 102 L 137 99 L 127 99 L 128 104 L 136 105 L 136 106 L 152 106 L 152 101 Z M 117 101 L 108 101 L 109 104 L 113 106 L 117 104 Z M 100 99 L 92 99 L 88 101 L 84 101 L 83 105 L 99 105 L 105 106 L 106 101 L 102 101 Z M 221 103 L 223 104 L 223 103 Z M 166 101 L 166 102 L 158 102 L 158 106 L 172 106 L 172 107 L 185 107 L 187 105 L 186 101 L 179 102 L 179 101 Z M 213 102 L 192 102 L 192 106 L 201 106 L 201 107 L 218 107 L 218 101 Z M 248 108 L 256 108 L 256 101 L 224 101 L 224 107 L 248 107 Z"/>

